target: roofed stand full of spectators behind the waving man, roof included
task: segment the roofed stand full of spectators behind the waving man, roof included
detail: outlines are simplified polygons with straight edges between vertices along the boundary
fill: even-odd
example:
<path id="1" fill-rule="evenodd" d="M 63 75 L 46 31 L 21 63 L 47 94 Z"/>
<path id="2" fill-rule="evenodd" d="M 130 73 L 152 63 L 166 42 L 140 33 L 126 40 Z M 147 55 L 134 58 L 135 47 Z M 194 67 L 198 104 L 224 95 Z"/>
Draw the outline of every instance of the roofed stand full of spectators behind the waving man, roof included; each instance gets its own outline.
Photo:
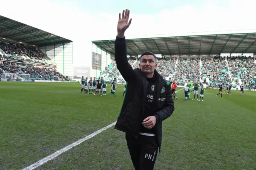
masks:
<path id="1" fill-rule="evenodd" d="M 213 88 L 220 84 L 224 87 L 232 84 L 233 87 L 239 89 L 240 81 L 242 81 L 246 83 L 245 87 L 250 89 L 255 87 L 255 60 L 246 61 L 239 74 L 241 79 L 235 81 L 234 74 L 238 77 L 238 73 L 233 73 L 233 66 L 228 65 L 228 59 L 220 56 L 252 54 L 256 57 L 255 35 L 255 32 L 241 31 L 226 34 L 188 36 L 182 34 L 170 37 L 126 39 L 126 51 L 130 57 L 138 57 L 144 51 L 151 51 L 157 56 L 162 56 L 163 59 L 158 59 L 158 71 L 167 80 L 169 78 L 176 80 L 177 85 L 184 85 L 190 79 L 193 82 L 206 83 Z M 115 53 L 114 42 L 115 40 L 92 41 L 94 45 L 112 55 Z M 236 64 L 236 61 L 234 62 Z M 138 61 L 134 61 L 132 66 L 138 67 Z M 108 68 L 106 70 L 110 71 Z M 113 71 L 114 74 L 118 74 L 116 69 Z"/>

